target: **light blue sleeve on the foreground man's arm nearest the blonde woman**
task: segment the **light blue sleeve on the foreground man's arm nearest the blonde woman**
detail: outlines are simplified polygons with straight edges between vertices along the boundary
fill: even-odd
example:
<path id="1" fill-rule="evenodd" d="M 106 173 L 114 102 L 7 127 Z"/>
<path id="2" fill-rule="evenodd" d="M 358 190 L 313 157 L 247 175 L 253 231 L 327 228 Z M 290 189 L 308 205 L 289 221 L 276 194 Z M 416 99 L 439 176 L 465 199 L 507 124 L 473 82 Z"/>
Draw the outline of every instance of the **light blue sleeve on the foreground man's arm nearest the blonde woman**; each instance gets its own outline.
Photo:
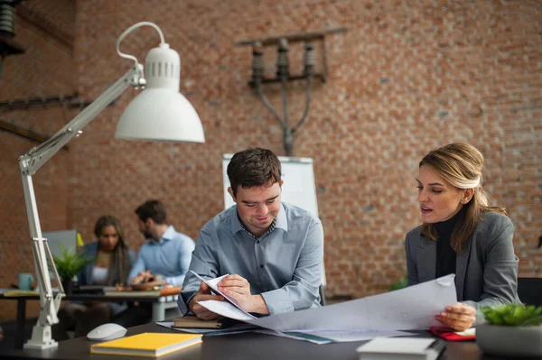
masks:
<path id="1" fill-rule="evenodd" d="M 323 228 L 314 220 L 294 269 L 294 278 L 280 289 L 263 292 L 270 315 L 308 309 L 320 296 L 323 271 Z"/>

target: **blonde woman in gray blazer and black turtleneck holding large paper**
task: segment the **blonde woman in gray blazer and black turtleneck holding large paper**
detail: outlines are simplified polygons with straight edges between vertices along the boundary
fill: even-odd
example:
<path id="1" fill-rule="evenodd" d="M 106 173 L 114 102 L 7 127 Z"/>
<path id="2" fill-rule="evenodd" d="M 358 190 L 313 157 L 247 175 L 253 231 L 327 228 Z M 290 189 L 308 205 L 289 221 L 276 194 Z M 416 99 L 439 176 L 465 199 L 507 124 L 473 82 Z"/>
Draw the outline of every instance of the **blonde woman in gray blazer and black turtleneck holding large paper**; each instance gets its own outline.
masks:
<path id="1" fill-rule="evenodd" d="M 482 170 L 483 155 L 467 143 L 427 153 L 417 177 L 423 224 L 406 234 L 408 285 L 455 273 L 460 302 L 435 318 L 458 331 L 481 307 L 519 302 L 514 226 L 504 208 L 490 206 Z"/>

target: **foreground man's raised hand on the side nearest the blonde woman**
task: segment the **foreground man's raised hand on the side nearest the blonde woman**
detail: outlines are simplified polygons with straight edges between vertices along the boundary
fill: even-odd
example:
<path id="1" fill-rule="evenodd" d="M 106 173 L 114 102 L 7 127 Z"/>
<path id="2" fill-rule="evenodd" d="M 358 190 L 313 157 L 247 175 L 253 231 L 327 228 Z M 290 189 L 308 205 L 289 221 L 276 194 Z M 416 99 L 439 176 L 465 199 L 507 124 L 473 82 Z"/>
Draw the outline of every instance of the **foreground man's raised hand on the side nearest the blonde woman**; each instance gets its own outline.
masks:
<path id="1" fill-rule="evenodd" d="M 233 274 L 228 275 L 219 282 L 219 290 L 237 301 L 238 306 L 247 312 L 269 314 L 266 301 L 261 295 L 250 293 L 250 284 L 247 279 Z"/>

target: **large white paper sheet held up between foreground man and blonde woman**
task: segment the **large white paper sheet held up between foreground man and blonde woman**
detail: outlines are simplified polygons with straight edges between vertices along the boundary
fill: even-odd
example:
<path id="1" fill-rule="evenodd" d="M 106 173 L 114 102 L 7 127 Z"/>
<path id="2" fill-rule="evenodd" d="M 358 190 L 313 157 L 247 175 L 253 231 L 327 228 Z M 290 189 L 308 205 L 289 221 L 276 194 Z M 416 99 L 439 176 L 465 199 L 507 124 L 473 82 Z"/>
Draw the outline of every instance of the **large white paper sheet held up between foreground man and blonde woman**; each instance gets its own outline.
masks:
<path id="1" fill-rule="evenodd" d="M 454 277 L 454 274 L 450 274 L 405 289 L 322 308 L 251 320 L 237 319 L 281 332 L 425 330 L 439 325 L 435 314 L 457 301 Z M 227 309 L 219 309 L 212 306 L 214 304 L 206 304 L 206 301 L 200 303 L 222 316 L 229 318 L 231 315 L 226 315 Z"/>

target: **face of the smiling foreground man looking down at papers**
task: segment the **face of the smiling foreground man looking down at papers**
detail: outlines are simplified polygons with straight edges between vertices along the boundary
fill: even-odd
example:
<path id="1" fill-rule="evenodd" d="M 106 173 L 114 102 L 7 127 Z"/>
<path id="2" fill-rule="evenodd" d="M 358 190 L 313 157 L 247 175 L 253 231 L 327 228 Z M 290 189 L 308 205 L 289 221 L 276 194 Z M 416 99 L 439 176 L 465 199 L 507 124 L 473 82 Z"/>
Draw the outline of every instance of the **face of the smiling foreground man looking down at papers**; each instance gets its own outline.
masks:
<path id="1" fill-rule="evenodd" d="M 256 236 L 264 234 L 280 210 L 280 187 L 283 180 L 274 184 L 243 189 L 238 186 L 237 195 L 228 189 L 238 205 L 238 216 L 247 230 Z"/>

